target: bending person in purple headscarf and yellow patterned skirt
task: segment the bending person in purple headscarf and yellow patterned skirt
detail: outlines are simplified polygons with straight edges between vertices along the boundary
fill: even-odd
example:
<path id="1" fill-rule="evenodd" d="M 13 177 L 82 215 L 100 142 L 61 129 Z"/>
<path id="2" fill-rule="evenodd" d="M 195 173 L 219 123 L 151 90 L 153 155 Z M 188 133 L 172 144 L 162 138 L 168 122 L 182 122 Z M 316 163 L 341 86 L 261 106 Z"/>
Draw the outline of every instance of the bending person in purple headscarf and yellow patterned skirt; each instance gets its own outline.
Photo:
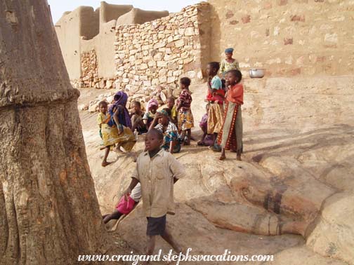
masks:
<path id="1" fill-rule="evenodd" d="M 108 109 L 110 115 L 110 121 L 102 130 L 103 144 L 105 147 L 114 146 L 117 144 L 114 151 L 122 151 L 120 147 L 123 147 L 125 151 L 131 151 L 136 139 L 131 132 L 131 119 L 129 111 L 126 109 L 126 102 L 128 95 L 123 91 L 119 91 L 114 95 L 114 102 Z"/>

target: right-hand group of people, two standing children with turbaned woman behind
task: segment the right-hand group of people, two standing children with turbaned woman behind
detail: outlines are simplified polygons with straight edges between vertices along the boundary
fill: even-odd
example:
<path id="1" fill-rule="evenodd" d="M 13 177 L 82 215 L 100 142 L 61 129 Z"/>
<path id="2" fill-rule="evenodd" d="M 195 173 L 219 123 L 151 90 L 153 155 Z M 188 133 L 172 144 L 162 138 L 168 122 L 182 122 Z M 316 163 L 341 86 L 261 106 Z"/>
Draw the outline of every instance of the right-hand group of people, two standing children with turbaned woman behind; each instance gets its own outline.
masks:
<path id="1" fill-rule="evenodd" d="M 242 112 L 244 89 L 240 83 L 242 74 L 238 64 L 232 58 L 232 48 L 225 50 L 225 60 L 209 62 L 206 67 L 208 75 L 208 93 L 206 95 L 207 118 L 203 116 L 200 124 L 204 134 L 199 145 L 210 145 L 213 151 L 221 151 L 220 160 L 224 160 L 225 150 L 235 151 L 237 160 L 242 154 Z M 218 76 L 218 70 L 223 76 Z M 206 121 L 206 124 L 205 124 Z M 209 139 L 206 136 L 209 135 Z M 208 142 L 206 142 L 206 140 Z"/>

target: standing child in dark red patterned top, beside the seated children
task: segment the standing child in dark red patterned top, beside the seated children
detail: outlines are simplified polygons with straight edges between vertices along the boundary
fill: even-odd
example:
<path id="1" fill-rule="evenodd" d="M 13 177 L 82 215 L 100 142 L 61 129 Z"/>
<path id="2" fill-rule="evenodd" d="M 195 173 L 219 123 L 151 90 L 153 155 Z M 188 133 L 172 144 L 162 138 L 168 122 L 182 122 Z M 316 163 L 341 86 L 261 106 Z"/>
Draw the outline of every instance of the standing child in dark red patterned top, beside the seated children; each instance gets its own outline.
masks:
<path id="1" fill-rule="evenodd" d="M 190 79 L 183 77 L 180 80 L 180 87 L 182 89 L 181 95 L 178 97 L 178 104 L 176 110 L 178 111 L 178 130 L 181 133 L 182 144 L 190 145 L 191 128 L 194 127 L 193 114 L 190 109 L 192 103 L 192 96 L 190 95 Z M 187 134 L 187 141 L 185 135 Z"/>

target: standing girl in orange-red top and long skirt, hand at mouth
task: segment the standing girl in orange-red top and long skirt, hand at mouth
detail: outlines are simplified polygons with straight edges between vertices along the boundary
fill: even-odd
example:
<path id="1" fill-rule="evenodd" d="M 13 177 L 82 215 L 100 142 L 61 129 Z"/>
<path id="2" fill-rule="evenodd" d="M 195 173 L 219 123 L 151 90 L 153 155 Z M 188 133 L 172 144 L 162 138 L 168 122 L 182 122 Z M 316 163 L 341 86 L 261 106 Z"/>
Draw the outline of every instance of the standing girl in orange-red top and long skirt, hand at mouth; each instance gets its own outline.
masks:
<path id="1" fill-rule="evenodd" d="M 240 83 L 242 74 L 239 70 L 230 70 L 226 74 L 226 83 L 229 87 L 226 97 L 225 121 L 223 129 L 218 135 L 221 144 L 220 160 L 224 160 L 225 150 L 237 152 L 237 160 L 241 161 L 242 152 L 242 112 L 244 89 Z"/>

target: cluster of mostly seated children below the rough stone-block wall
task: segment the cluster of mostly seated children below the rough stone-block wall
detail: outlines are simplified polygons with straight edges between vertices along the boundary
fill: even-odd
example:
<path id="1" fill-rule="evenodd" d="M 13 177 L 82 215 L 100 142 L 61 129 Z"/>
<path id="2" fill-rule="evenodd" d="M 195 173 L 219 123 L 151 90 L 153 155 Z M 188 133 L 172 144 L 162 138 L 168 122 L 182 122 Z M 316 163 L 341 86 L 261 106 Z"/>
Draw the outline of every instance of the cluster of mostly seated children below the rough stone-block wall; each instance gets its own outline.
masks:
<path id="1" fill-rule="evenodd" d="M 164 135 L 162 149 L 171 154 L 178 153 L 181 146 L 190 144 L 191 128 L 194 127 L 194 118 L 190 109 L 192 96 L 189 90 L 190 79 L 181 78 L 181 95 L 175 104 L 174 97 L 166 100 L 167 107 L 157 111 L 159 103 L 155 99 L 147 102 L 147 111 L 144 113 L 138 101 L 132 102 L 133 111 L 126 109 L 128 95 L 119 91 L 114 95 L 114 102 L 108 107 L 107 102 L 98 104 L 100 113 L 97 122 L 100 127 L 100 137 L 103 140 L 105 156 L 102 166 L 109 165 L 107 156 L 110 150 L 131 151 L 136 142 L 134 133 L 140 135 L 152 128 Z M 117 147 L 115 147 L 117 145 Z"/>

